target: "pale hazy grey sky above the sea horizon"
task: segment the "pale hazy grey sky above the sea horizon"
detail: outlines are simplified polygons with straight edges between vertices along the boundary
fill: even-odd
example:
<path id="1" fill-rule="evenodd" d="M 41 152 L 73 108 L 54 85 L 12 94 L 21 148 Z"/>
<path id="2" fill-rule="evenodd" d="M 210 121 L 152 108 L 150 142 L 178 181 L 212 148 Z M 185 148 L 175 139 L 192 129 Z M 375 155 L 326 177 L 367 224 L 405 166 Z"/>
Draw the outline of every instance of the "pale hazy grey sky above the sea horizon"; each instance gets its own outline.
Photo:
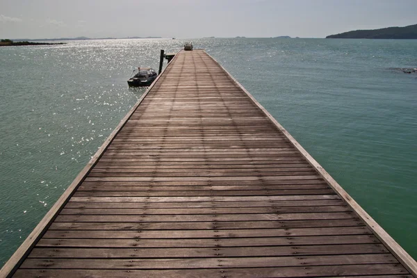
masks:
<path id="1" fill-rule="evenodd" d="M 0 38 L 324 38 L 417 24 L 417 0 L 0 0 Z"/>

